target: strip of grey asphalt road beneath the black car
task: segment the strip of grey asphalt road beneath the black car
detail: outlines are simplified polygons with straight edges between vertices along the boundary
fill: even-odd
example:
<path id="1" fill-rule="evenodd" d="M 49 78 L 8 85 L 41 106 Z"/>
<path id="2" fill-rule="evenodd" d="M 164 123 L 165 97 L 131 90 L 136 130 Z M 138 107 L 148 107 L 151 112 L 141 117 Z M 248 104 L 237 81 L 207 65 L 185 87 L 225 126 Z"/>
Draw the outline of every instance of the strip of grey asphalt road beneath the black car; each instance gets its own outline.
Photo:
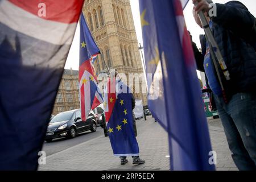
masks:
<path id="1" fill-rule="evenodd" d="M 49 156 L 100 136 L 104 136 L 104 130 L 101 127 L 97 127 L 97 131 L 94 133 L 85 131 L 84 133 L 78 134 L 76 138 L 59 138 L 53 139 L 50 143 L 44 142 L 43 151 Z"/>

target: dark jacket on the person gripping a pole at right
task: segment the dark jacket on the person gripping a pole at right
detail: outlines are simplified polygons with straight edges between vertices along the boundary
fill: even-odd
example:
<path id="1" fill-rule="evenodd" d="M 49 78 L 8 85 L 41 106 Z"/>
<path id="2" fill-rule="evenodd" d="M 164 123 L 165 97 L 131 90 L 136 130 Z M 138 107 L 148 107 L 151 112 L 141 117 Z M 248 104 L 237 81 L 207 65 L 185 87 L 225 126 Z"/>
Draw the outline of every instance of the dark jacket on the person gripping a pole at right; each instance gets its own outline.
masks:
<path id="1" fill-rule="evenodd" d="M 217 16 L 212 18 L 212 32 L 228 67 L 231 80 L 225 81 L 220 67 L 226 94 L 230 98 L 239 92 L 256 91 L 255 18 L 238 1 L 225 5 L 216 3 Z M 193 43 L 197 68 L 204 72 L 206 39 L 201 36 L 202 53 Z M 212 56 L 212 55 L 211 55 Z M 218 64 L 219 66 L 219 64 Z"/>

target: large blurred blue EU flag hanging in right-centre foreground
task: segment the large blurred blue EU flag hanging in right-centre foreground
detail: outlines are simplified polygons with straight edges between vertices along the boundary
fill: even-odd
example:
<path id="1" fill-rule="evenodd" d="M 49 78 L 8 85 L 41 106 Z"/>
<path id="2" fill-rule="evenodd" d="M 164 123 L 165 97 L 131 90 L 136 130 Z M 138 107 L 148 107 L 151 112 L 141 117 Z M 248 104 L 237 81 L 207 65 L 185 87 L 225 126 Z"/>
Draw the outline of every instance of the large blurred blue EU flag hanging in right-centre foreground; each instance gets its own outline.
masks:
<path id="1" fill-rule="evenodd" d="M 187 1 L 182 1 L 183 5 Z M 140 0 L 148 107 L 168 132 L 172 170 L 213 170 L 207 119 L 180 0 Z"/>

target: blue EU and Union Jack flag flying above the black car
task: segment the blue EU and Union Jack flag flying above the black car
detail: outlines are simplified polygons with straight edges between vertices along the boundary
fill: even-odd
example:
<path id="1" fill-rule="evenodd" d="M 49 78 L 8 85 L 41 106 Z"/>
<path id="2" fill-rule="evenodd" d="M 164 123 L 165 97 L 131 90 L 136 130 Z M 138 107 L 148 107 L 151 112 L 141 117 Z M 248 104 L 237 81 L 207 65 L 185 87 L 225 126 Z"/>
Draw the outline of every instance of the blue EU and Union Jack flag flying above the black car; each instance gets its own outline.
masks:
<path id="1" fill-rule="evenodd" d="M 86 24 L 84 15 L 80 16 L 80 67 L 79 89 L 82 121 L 86 121 L 90 110 L 103 103 L 103 98 L 98 88 L 93 60 L 100 53 L 92 34 Z"/>

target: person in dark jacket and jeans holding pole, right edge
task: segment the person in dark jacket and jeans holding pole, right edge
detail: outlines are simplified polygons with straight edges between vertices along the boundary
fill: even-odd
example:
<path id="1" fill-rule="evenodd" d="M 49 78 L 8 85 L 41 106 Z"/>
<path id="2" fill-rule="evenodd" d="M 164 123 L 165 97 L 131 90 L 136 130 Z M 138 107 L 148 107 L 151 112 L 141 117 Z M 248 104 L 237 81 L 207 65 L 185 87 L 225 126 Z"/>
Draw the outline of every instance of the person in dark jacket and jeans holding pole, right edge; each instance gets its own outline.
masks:
<path id="1" fill-rule="evenodd" d="M 224 58 L 230 80 L 226 81 L 220 66 L 221 82 L 226 91 L 225 102 L 220 81 L 214 69 L 216 57 L 205 36 L 201 36 L 202 52 L 193 43 L 197 68 L 205 72 L 212 89 L 218 114 L 220 115 L 232 158 L 240 170 L 256 169 L 256 53 L 255 18 L 238 1 L 216 3 L 216 15 L 209 15 L 209 0 L 193 0 L 193 16 L 202 28 L 198 13 L 207 15 L 221 54 Z M 217 61 L 218 64 L 218 61 Z"/>

